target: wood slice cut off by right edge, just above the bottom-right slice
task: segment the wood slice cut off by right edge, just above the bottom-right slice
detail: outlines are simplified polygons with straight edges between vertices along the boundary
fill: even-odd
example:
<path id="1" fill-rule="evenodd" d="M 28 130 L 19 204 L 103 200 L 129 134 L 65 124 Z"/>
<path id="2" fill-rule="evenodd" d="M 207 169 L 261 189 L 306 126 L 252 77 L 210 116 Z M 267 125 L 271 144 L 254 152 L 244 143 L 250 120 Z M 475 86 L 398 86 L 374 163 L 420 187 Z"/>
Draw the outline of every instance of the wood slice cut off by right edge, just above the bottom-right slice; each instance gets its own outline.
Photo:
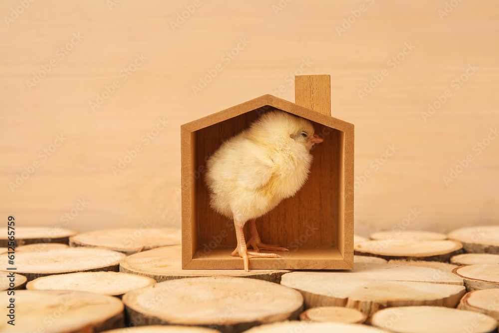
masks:
<path id="1" fill-rule="evenodd" d="M 499 289 L 476 290 L 459 302 L 458 309 L 481 312 L 499 321 Z"/>

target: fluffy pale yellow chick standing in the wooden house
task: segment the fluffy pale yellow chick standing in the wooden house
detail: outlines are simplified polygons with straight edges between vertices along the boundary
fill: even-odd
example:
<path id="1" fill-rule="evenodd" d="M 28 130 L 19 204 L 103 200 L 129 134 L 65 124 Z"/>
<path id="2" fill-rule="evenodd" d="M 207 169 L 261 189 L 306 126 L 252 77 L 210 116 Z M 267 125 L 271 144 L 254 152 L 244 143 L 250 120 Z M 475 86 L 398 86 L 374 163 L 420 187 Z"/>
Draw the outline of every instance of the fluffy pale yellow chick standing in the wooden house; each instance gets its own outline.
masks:
<path id="1" fill-rule="evenodd" d="M 263 244 L 255 219 L 283 199 L 292 197 L 307 180 L 312 164 L 310 149 L 324 139 L 312 124 L 284 111 L 263 113 L 249 129 L 224 142 L 207 162 L 206 183 L 210 204 L 222 215 L 234 219 L 239 254 L 248 271 L 249 258 L 280 258 L 260 250 L 289 251 Z M 244 225 L 250 223 L 248 251 Z"/>

